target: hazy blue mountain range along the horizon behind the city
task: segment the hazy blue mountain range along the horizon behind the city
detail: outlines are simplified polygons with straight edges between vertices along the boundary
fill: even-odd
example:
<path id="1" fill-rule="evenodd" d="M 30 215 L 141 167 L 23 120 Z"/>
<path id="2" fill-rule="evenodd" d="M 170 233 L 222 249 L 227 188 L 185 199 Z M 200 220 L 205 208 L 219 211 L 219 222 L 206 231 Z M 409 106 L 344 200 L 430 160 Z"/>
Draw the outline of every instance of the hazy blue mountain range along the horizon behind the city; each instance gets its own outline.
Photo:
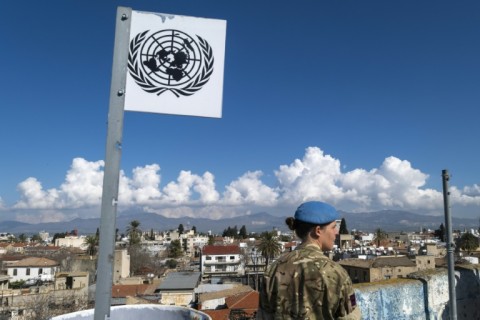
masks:
<path id="1" fill-rule="evenodd" d="M 345 218 L 347 229 L 374 231 L 381 228 L 385 231 L 420 231 L 423 228 L 438 229 L 440 224 L 445 224 L 443 216 L 426 216 L 407 211 L 384 210 L 376 212 L 349 213 L 340 212 Z M 281 231 L 287 231 L 285 225 L 286 217 L 278 217 L 260 212 L 251 215 L 245 215 L 234 218 L 212 220 L 206 218 L 167 218 L 154 213 L 121 213 L 116 220 L 116 227 L 119 233 L 125 233 L 127 226 L 133 220 L 140 222 L 140 229 L 149 231 L 167 231 L 175 230 L 180 224 L 185 229 L 195 226 L 199 232 L 211 231 L 221 234 L 228 227 L 237 226 L 240 229 L 245 226 L 247 232 L 262 232 L 276 228 Z M 454 229 L 470 229 L 479 227 L 478 219 L 452 218 Z M 13 234 L 36 234 L 39 231 L 47 231 L 50 234 L 62 233 L 77 229 L 80 234 L 93 234 L 100 227 L 100 219 L 74 219 L 68 222 L 51 222 L 30 224 L 18 221 L 0 222 L 0 232 L 10 232 Z"/>

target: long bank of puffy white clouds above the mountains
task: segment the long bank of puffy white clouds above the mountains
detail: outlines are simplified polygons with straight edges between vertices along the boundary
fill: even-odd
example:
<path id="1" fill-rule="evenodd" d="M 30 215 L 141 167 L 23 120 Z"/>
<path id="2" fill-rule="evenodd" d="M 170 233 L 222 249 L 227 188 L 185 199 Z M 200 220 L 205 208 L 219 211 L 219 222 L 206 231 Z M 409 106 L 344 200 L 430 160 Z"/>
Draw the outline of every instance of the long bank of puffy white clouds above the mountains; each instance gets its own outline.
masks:
<path id="1" fill-rule="evenodd" d="M 30 177 L 18 185 L 20 200 L 13 206 L 17 219 L 28 219 L 37 210 L 35 221 L 68 220 L 89 212 L 98 216 L 102 197 L 103 161 L 75 158 L 65 181 L 58 189 L 44 190 Z M 443 194 L 425 188 L 428 174 L 413 168 L 407 160 L 390 156 L 378 168 L 344 171 L 339 159 L 318 147 L 309 147 L 301 159 L 279 166 L 274 171 L 275 186 L 262 181 L 261 171 L 246 172 L 220 193 L 210 172 L 197 175 L 182 170 L 175 181 L 162 187 L 158 164 L 136 167 L 129 177 L 120 172 L 119 207 L 143 208 L 170 217 L 220 218 L 260 210 L 296 207 L 306 200 L 323 200 L 345 211 L 404 209 L 418 213 L 441 213 Z M 451 204 L 477 208 L 480 186 L 451 187 Z M 5 205 L 0 199 L 0 209 Z M 72 210 L 74 209 L 74 210 Z M 82 211 L 83 210 L 83 211 Z M 256 211 L 255 211 L 256 210 Z M 20 213 L 24 212 L 24 216 Z M 28 213 L 27 213 L 28 212 Z"/>

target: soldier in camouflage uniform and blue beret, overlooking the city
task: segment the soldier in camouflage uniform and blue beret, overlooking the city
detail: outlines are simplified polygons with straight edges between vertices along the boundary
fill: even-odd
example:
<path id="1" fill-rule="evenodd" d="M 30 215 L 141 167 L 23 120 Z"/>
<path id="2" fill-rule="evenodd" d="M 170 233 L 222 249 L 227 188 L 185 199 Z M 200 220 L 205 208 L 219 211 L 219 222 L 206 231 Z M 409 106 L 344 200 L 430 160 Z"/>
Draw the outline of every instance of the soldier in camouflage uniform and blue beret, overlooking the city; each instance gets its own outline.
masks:
<path id="1" fill-rule="evenodd" d="M 302 240 L 265 272 L 257 319 L 360 319 L 352 281 L 324 255 L 333 248 L 340 218 L 332 206 L 305 202 L 286 219 Z"/>

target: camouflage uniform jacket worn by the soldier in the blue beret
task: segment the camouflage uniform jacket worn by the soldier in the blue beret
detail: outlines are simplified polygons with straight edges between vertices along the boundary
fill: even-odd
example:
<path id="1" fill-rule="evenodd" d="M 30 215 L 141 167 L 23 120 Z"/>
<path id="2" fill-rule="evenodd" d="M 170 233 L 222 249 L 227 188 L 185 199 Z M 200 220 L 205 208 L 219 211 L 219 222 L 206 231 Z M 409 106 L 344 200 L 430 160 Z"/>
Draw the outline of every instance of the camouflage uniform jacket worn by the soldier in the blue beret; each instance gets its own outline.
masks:
<path id="1" fill-rule="evenodd" d="M 347 272 L 315 244 L 282 255 L 265 272 L 257 319 L 360 319 Z"/>

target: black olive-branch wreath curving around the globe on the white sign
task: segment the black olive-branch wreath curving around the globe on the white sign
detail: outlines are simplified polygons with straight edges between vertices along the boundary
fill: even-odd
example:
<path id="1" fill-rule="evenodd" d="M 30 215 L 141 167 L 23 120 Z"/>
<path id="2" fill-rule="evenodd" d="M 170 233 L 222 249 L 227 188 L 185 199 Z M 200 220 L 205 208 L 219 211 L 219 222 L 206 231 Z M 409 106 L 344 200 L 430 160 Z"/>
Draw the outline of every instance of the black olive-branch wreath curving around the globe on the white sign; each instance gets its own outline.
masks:
<path id="1" fill-rule="evenodd" d="M 197 35 L 202 52 L 202 67 L 198 75 L 189 81 L 183 88 L 169 88 L 159 86 L 155 81 L 146 75 L 141 67 L 138 56 L 141 55 L 140 48 L 149 30 L 137 34 L 129 45 L 128 70 L 135 82 L 146 92 L 156 93 L 157 96 L 166 92 L 172 92 L 177 98 L 180 96 L 191 96 L 200 90 L 210 79 L 213 73 L 213 51 L 207 41 Z"/>

